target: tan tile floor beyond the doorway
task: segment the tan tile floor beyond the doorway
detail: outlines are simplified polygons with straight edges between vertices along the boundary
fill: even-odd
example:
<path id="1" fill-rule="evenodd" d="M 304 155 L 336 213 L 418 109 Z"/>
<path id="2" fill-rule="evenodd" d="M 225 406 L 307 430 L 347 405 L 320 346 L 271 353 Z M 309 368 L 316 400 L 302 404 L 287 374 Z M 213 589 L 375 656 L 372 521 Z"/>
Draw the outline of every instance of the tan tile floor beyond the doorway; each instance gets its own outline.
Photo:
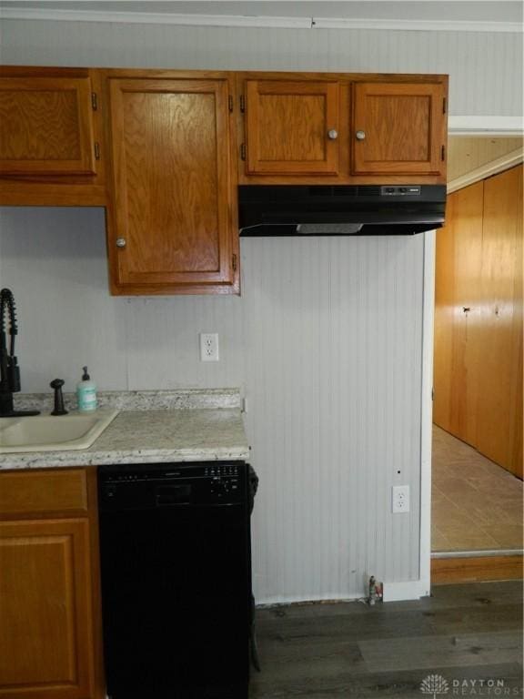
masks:
<path id="1" fill-rule="evenodd" d="M 522 549 L 522 481 L 437 426 L 431 549 Z"/>

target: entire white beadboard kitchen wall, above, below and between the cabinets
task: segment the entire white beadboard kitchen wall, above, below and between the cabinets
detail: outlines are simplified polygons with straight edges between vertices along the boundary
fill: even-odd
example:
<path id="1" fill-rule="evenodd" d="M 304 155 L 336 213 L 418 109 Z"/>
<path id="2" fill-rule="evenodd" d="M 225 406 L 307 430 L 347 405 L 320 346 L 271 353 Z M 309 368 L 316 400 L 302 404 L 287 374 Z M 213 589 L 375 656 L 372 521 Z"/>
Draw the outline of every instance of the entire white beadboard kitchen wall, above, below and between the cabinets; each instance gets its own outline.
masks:
<path id="1" fill-rule="evenodd" d="M 9 21 L 8 64 L 448 72 L 452 114 L 519 114 L 520 37 Z M 418 579 L 424 239 L 243 239 L 241 298 L 112 298 L 99 209 L 4 208 L 25 390 L 240 386 L 259 602 Z M 220 333 L 203 365 L 197 334 Z M 399 472 L 398 472 L 399 471 Z M 412 512 L 392 516 L 394 483 Z"/>

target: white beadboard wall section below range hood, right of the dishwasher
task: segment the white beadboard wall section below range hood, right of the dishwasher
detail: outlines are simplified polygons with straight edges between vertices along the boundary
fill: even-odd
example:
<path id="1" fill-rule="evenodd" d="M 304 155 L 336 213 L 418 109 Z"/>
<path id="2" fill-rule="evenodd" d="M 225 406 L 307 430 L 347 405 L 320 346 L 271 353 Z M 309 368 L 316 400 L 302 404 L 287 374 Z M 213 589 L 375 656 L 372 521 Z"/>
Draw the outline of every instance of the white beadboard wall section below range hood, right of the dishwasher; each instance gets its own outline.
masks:
<path id="1" fill-rule="evenodd" d="M 261 600 L 418 577 L 422 260 L 421 236 L 242 240 Z"/>

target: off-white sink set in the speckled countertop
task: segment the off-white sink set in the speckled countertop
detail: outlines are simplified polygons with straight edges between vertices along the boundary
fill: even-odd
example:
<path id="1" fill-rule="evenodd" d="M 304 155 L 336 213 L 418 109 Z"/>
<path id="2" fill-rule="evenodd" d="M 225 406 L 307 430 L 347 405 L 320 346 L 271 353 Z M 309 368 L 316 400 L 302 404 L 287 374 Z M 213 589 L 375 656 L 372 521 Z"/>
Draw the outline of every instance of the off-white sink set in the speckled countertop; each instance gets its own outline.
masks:
<path id="1" fill-rule="evenodd" d="M 0 418 L 0 454 L 87 449 L 117 414 L 118 410 L 101 409 L 92 414 Z"/>

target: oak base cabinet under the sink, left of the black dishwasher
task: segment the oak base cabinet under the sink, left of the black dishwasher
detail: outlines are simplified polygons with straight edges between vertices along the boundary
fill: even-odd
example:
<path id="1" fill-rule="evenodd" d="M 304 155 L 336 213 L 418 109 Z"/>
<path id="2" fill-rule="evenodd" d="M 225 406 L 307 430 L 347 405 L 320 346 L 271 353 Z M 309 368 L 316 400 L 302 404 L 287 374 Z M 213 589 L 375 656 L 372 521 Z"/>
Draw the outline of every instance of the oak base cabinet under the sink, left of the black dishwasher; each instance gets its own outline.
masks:
<path id="1" fill-rule="evenodd" d="M 95 476 L 0 472 L 2 699 L 105 696 Z"/>

